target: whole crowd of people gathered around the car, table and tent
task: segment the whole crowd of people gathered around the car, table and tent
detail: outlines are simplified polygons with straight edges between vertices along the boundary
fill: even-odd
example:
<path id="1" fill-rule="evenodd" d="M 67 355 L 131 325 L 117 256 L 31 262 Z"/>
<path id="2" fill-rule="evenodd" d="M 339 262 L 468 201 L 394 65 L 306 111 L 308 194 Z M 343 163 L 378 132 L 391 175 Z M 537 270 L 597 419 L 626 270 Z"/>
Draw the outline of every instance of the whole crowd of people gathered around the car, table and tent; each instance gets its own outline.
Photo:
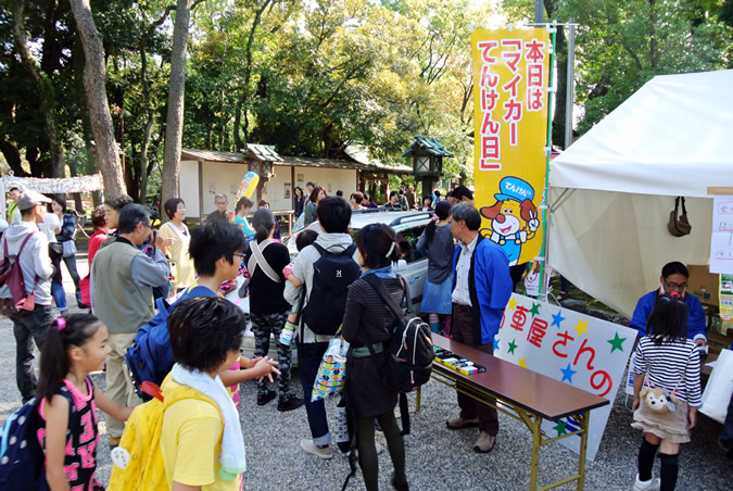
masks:
<path id="1" fill-rule="evenodd" d="M 26 293 L 35 295 L 29 311 L 11 316 L 16 381 L 24 403 L 37 395 L 46 428 L 46 438 L 38 444 L 46 452 L 45 479 L 52 488 L 65 489 L 67 483 L 72 489 L 102 489 L 94 478 L 99 441 L 94 408 L 106 415 L 110 446 L 119 445 L 125 420 L 142 402 L 124 356 L 140 327 L 155 315 L 156 301 L 157 305 L 167 301 L 173 305 L 167 330 L 175 365 L 163 382 L 163 395 L 174 396 L 181 386 L 203 394 L 176 402 L 164 414 L 160 471 L 168 488 L 240 489 L 245 463 L 236 411 L 241 403 L 239 385 L 248 380 L 257 385 L 256 405 L 275 398 L 280 412 L 304 405 L 311 438 L 300 440 L 301 449 L 318 458 L 332 457 L 324 401 L 309 395 L 333 338 L 324 326 L 330 326 L 336 316 L 341 336 L 351 345 L 345 402 L 355 417 L 366 489 L 378 489 L 376 423 L 384 432 L 394 467 L 393 488 L 409 489 L 404 439 L 394 416 L 397 393 L 381 377 L 396 318 L 366 279 L 374 275 L 371 279 L 378 278 L 396 302 L 403 302 L 406 286 L 394 267 L 401 256 L 397 237 L 381 224 L 368 225 L 352 237 L 352 212 L 376 206 L 366 193 L 357 191 L 346 200 L 342 194 L 327 197 L 313 182 L 305 188 L 295 188 L 294 210 L 306 226 L 317 221 L 318 228 L 298 235 L 299 254 L 292 262 L 266 201 L 250 217 L 252 200 L 240 199 L 231 211 L 227 197 L 216 194 L 216 210 L 189 230 L 186 203 L 172 198 L 163 205 L 168 219 L 155 230 L 147 207 L 127 196 L 110 197 L 92 213 L 86 278 L 76 272 L 75 248 L 72 253 L 65 246 L 73 243 L 76 224 L 66 218 L 71 215 L 63 197 L 11 190 L 11 225 L 0 240 L 0 257 L 17 256 Z M 458 186 L 443 198 L 437 190 L 418 202 L 413 186 L 402 187 L 390 193 L 383 207 L 433 213 L 417 242 L 428 257 L 421 310 L 433 332 L 450 333 L 455 341 L 493 354 L 514 281 L 506 253 L 479 232 L 481 215 L 471 191 Z M 340 261 L 338 277 L 343 281 L 342 276 L 350 277 L 347 289 L 338 290 L 343 281 L 329 285 L 324 279 L 320 262 L 328 257 Z M 74 279 L 79 307 L 90 313 L 67 313 L 59 273 L 62 261 Z M 349 272 L 354 272 L 353 277 Z M 673 489 L 679 445 L 690 441 L 695 426 L 700 391 L 696 356 L 705 332 L 698 332 L 699 305 L 694 297 L 684 295 L 687 276 L 683 265 L 666 265 L 660 289 L 640 301 L 632 320 L 640 329 L 634 425 L 644 431 L 634 489 Z M 223 298 L 232 281 L 237 287 L 238 277 L 247 278 L 240 294 L 250 295 L 253 358 L 240 354 L 248 316 Z M 290 387 L 292 338 L 303 399 Z M 273 339 L 277 362 L 268 357 Z M 40 378 L 34 368 L 34 342 L 41 351 Z M 101 367 L 104 393 L 88 377 Z M 274 376 L 277 391 L 270 389 Z M 680 403 L 673 419 L 659 421 L 644 406 L 640 392 L 648 383 L 677 393 Z M 472 449 L 478 453 L 489 453 L 495 445 L 498 418 L 491 403 L 458 391 L 460 411 L 446 421 L 452 430 L 477 428 Z M 72 406 L 84 417 L 71 418 Z M 661 477 L 656 479 L 652 467 L 658 449 Z"/>

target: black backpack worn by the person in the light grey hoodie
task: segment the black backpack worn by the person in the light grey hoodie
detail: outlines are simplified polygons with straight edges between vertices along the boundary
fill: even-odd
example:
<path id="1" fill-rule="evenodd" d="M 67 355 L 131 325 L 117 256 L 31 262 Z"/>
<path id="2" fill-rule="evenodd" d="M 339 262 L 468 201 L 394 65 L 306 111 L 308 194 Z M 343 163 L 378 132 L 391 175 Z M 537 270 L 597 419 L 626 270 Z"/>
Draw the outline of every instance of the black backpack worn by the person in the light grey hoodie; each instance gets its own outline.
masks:
<path id="1" fill-rule="evenodd" d="M 316 335 L 333 336 L 346 312 L 349 286 L 362 272 L 352 257 L 356 244 L 352 243 L 340 254 L 329 252 L 317 243 L 313 247 L 320 253 L 320 259 L 313 264 L 313 287 L 308 303 L 303 309 L 303 320 Z"/>

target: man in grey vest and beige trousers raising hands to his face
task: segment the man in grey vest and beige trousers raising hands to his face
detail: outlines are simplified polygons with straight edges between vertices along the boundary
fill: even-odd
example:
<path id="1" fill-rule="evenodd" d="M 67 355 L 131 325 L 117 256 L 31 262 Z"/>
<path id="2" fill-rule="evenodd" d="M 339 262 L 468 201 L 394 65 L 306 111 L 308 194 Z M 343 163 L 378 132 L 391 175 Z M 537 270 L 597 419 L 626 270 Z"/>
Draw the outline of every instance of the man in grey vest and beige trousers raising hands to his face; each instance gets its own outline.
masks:
<path id="1" fill-rule="evenodd" d="M 110 331 L 106 356 L 106 394 L 117 404 L 135 406 L 132 382 L 124 355 L 135 336 L 155 314 L 153 287 L 168 281 L 168 261 L 161 252 L 163 237 L 153 232 L 147 207 L 130 203 L 119 212 L 119 237 L 97 252 L 91 263 L 89 292 L 93 314 Z M 139 248 L 150 239 L 154 253 L 149 257 Z M 119 443 L 123 423 L 106 415 L 110 446 Z"/>

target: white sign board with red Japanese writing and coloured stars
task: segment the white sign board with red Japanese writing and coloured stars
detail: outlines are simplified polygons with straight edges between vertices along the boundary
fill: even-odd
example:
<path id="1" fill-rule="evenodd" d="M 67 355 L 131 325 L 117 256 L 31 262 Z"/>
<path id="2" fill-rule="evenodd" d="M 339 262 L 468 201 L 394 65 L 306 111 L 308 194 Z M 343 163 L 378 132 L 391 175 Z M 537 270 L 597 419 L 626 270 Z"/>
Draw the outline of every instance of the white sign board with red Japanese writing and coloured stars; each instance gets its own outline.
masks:
<path id="1" fill-rule="evenodd" d="M 494 356 L 611 402 L 591 411 L 587 458 L 593 461 L 635 337 L 634 329 L 515 293 L 494 339 Z M 576 431 L 579 425 L 565 417 L 545 420 L 542 428 L 553 438 Z M 580 452 L 580 437 L 559 442 Z"/>

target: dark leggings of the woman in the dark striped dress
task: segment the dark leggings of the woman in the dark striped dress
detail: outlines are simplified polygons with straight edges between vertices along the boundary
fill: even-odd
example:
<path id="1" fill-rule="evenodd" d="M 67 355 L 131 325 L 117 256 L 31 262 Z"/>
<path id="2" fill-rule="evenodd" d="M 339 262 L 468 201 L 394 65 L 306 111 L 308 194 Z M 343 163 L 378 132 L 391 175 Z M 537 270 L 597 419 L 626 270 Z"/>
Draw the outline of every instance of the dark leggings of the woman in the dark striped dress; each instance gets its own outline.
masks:
<path id="1" fill-rule="evenodd" d="M 400 435 L 400 427 L 394 417 L 394 412 L 380 414 L 377 416 L 379 426 L 384 431 L 387 446 L 390 451 L 392 465 L 394 466 L 394 480 L 397 483 L 407 482 L 405 475 L 405 442 Z M 362 468 L 364 483 L 367 491 L 377 491 L 379 489 L 379 461 L 377 459 L 377 446 L 375 444 L 375 418 L 358 418 L 357 421 L 357 449 L 358 465 Z"/>

